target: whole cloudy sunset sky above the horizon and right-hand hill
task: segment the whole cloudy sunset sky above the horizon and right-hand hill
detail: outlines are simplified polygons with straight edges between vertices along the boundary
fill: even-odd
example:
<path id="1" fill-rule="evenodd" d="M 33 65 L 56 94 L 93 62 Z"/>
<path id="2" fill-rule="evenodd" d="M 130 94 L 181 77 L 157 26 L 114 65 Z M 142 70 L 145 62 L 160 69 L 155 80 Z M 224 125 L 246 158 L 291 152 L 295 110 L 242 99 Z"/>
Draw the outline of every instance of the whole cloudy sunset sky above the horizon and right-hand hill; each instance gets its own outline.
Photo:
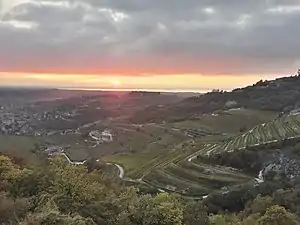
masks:
<path id="1" fill-rule="evenodd" d="M 0 0 L 0 86 L 230 90 L 300 67 L 300 0 Z"/>

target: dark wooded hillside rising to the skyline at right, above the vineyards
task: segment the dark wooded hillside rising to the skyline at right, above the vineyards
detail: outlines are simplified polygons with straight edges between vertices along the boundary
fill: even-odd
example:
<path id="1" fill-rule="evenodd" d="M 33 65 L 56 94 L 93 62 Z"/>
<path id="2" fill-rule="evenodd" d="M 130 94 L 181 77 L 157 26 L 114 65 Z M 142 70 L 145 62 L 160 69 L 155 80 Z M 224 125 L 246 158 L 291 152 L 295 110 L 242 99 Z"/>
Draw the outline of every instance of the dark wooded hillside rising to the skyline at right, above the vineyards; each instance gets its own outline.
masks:
<path id="1" fill-rule="evenodd" d="M 291 76 L 259 81 L 252 86 L 235 89 L 232 92 L 216 90 L 184 99 L 180 103 L 166 105 L 164 108 L 146 108 L 137 112 L 131 120 L 135 123 L 184 120 L 201 113 L 239 107 L 286 112 L 297 108 L 299 103 L 300 77 Z"/>

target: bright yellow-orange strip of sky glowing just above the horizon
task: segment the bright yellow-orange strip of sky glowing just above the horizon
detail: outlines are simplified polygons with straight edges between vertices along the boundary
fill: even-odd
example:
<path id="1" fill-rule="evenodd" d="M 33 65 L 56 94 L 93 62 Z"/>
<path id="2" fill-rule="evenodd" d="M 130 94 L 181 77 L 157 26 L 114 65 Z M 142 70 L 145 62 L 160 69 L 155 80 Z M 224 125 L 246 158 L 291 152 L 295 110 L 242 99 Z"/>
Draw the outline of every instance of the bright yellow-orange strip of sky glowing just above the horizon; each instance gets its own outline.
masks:
<path id="1" fill-rule="evenodd" d="M 147 89 L 205 92 L 212 89 L 231 90 L 274 79 L 271 75 L 58 75 L 30 73 L 0 73 L 1 86 L 36 86 L 75 89 Z"/>

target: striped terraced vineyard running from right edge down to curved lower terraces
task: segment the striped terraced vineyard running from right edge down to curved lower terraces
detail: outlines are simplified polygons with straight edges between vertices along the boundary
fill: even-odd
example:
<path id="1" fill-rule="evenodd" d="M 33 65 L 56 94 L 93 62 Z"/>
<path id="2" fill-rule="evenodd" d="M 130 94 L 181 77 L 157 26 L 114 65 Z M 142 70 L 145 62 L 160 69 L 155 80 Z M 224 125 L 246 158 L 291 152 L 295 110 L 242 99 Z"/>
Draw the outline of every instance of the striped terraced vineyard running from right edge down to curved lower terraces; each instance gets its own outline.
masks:
<path id="1" fill-rule="evenodd" d="M 162 156 L 141 170 L 143 181 L 163 191 L 177 192 L 188 196 L 204 196 L 213 190 L 246 183 L 254 177 L 226 168 L 207 165 L 197 158 L 221 152 L 233 152 L 251 146 L 277 143 L 280 140 L 300 137 L 300 115 L 277 118 L 258 125 L 244 134 L 220 143 L 203 143 L 198 150 L 175 151 L 171 158 Z M 193 153 L 192 153 L 193 152 Z M 146 165 L 145 165 L 146 166 Z"/>

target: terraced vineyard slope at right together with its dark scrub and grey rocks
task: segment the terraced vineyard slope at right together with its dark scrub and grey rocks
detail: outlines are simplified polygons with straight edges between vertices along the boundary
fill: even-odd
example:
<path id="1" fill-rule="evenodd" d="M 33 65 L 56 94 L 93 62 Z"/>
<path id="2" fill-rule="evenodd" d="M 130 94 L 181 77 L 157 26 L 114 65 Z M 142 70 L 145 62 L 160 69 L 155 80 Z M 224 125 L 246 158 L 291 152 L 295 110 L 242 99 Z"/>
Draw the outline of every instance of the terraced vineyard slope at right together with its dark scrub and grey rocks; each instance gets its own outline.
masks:
<path id="1" fill-rule="evenodd" d="M 179 145 L 128 175 L 142 177 L 156 188 L 199 197 L 255 178 L 263 182 L 274 172 L 265 169 L 270 165 L 284 177 L 298 177 L 299 141 L 300 115 L 293 113 L 225 140 L 196 139 Z M 259 175 L 260 171 L 263 173 Z"/>

